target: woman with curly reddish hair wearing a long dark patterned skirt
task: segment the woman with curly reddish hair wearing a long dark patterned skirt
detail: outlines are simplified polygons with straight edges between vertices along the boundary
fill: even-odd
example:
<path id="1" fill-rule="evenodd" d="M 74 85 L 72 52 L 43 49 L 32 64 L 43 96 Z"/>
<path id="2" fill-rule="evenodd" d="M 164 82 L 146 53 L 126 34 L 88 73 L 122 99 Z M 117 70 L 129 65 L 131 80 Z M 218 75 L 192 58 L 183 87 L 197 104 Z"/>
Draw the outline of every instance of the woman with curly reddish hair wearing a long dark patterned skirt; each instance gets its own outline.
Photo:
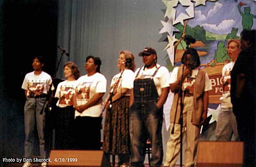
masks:
<path id="1" fill-rule="evenodd" d="M 105 100 L 107 111 L 104 124 L 103 150 L 111 155 L 118 155 L 119 166 L 126 167 L 130 163 L 128 108 L 135 68 L 132 52 L 121 51 L 117 67 L 120 73 L 112 78 L 110 92 Z"/>

